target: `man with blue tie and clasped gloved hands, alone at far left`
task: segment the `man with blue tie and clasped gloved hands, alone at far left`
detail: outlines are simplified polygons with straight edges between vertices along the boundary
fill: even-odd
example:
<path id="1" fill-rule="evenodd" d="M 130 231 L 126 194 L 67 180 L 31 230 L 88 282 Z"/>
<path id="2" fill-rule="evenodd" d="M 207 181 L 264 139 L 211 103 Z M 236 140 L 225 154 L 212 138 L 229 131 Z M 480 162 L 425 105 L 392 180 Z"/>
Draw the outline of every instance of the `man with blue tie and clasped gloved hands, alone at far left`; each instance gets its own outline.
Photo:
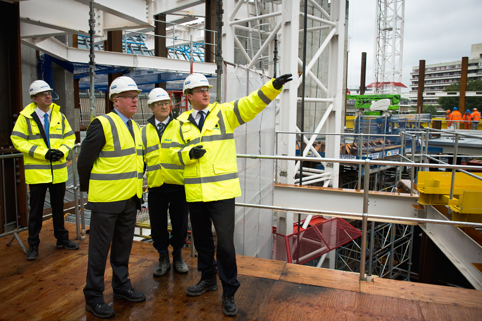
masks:
<path id="1" fill-rule="evenodd" d="M 29 251 L 27 260 L 39 256 L 39 233 L 45 194 L 50 193 L 54 236 L 58 248 L 76 250 L 64 227 L 64 196 L 67 181 L 66 157 L 74 146 L 75 134 L 69 122 L 52 102 L 52 88 L 43 80 L 30 85 L 34 101 L 20 112 L 12 131 L 12 143 L 24 154 L 25 182 L 30 188 Z"/>

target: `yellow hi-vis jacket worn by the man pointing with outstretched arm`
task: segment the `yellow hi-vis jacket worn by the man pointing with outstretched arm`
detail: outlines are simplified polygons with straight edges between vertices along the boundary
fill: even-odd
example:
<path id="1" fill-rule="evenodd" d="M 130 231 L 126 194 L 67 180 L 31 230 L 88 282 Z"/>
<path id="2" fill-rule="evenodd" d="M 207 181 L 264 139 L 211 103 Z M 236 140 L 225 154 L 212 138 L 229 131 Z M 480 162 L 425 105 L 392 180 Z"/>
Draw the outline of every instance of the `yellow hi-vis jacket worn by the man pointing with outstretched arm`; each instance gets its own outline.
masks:
<path id="1" fill-rule="evenodd" d="M 191 116 L 181 114 L 170 148 L 171 161 L 184 165 L 184 187 L 188 202 L 210 202 L 241 195 L 237 175 L 233 131 L 255 118 L 281 92 L 272 80 L 249 96 L 223 104 L 210 104 L 202 131 Z M 206 153 L 191 159 L 192 147 L 202 145 Z"/>

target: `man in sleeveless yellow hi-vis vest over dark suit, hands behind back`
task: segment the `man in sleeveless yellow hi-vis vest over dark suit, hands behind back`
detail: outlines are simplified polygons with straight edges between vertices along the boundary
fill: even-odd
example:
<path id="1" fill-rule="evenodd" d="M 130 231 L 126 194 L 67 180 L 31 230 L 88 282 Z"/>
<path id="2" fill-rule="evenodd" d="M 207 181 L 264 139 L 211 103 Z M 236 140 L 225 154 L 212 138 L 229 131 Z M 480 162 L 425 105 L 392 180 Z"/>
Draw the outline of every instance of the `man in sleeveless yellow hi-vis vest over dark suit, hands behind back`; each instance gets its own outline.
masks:
<path id="1" fill-rule="evenodd" d="M 129 279 L 129 256 L 137 210 L 141 209 L 144 175 L 141 127 L 131 119 L 140 92 L 129 77 L 112 81 L 109 98 L 114 109 L 92 120 L 77 162 L 80 190 L 89 194 L 85 208 L 92 212 L 85 309 L 101 318 L 114 316 L 103 297 L 109 248 L 113 297 L 131 302 L 146 299 L 144 293 L 134 290 Z"/>

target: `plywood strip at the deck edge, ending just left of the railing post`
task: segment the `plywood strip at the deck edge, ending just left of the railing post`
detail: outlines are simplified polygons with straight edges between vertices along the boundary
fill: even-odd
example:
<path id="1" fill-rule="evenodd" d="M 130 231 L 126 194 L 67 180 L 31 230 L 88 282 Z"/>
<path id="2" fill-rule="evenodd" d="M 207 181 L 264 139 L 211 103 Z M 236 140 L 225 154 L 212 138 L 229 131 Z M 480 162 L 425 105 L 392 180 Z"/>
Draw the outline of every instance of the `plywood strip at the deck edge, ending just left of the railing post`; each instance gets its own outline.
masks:
<path id="1" fill-rule="evenodd" d="M 281 281 L 360 291 L 359 274 L 287 263 Z"/>

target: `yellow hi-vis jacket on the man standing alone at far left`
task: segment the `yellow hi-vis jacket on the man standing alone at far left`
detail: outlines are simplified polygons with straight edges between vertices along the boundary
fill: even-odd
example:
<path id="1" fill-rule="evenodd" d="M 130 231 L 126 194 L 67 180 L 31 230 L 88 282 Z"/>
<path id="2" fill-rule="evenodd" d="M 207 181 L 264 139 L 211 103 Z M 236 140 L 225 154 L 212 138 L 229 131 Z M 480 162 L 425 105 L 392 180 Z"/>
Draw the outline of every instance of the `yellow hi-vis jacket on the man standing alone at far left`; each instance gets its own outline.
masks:
<path id="1" fill-rule="evenodd" d="M 49 147 L 40 134 L 37 122 L 32 117 L 36 107 L 36 103 L 31 103 L 20 112 L 10 137 L 15 148 L 24 154 L 25 182 L 27 184 L 63 183 L 67 181 L 65 158 L 75 144 L 75 134 L 67 118 L 59 111 L 60 106 L 52 103 L 49 127 L 50 148 L 58 149 L 64 155 L 57 162 L 45 159 Z"/>

